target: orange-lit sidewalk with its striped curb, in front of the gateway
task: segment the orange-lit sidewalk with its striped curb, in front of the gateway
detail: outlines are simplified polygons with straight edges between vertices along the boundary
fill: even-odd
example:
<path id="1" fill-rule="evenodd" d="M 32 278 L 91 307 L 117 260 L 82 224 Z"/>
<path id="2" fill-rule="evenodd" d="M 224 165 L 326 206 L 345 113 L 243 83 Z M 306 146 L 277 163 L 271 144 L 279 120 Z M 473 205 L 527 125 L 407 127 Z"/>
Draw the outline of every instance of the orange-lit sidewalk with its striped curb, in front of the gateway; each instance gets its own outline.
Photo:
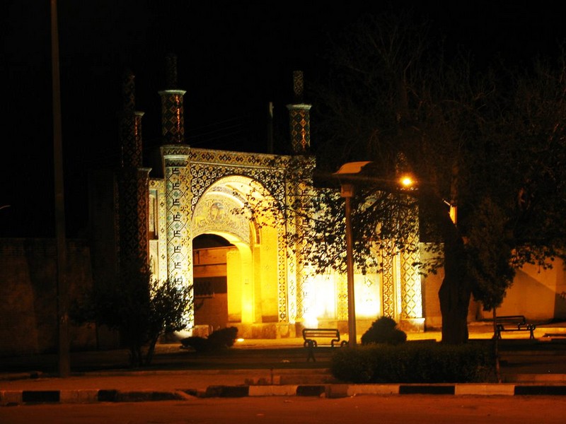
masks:
<path id="1" fill-rule="evenodd" d="M 55 355 L 1 358 L 0 405 L 195 396 L 566 394 L 566 325 L 541 326 L 535 336 L 531 341 L 522 332 L 504 335 L 502 384 L 343 384 L 328 371 L 330 348 L 316 352 L 316 363 L 307 363 L 302 338 L 246 340 L 224 355 L 206 356 L 180 349 L 180 343 L 158 345 L 154 364 L 144 370 L 127 367 L 127 351 L 71 353 L 73 372 L 65 379 L 53 377 Z M 489 324 L 470 326 L 470 340 L 491 337 Z M 440 333 L 408 339 L 439 340 Z"/>

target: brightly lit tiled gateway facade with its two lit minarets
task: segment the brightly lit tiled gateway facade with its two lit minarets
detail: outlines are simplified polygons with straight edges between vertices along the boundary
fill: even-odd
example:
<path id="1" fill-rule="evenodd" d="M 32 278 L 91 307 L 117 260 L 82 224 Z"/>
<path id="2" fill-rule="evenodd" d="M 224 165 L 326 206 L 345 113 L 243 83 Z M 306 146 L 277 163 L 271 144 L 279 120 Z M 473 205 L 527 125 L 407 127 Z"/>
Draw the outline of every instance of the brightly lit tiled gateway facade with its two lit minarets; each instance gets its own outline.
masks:
<path id="1" fill-rule="evenodd" d="M 190 284 L 193 238 L 219 235 L 236 247 L 226 254 L 226 325 L 237 324 L 245 336 L 295 336 L 301 327 L 314 325 L 343 331 L 348 319 L 345 276 L 312 275 L 301 246 L 285 239 L 301 230 L 300 218 L 284 221 L 280 213 L 262 212 L 271 200 L 300 208 L 311 187 L 308 179 L 316 164 L 310 155 L 311 105 L 303 102 L 302 73 L 294 72 L 294 103 L 287 106 L 291 156 L 190 148 L 184 144 L 185 91 L 177 89 L 175 57 L 168 58 L 167 75 L 168 90 L 159 92 L 163 179 L 149 182 L 154 275 Z M 304 175 L 287 178 L 297 171 Z M 357 319 L 371 322 L 386 314 L 422 323 L 420 276 L 410 265 L 415 261 L 398 255 L 383 273 L 357 274 Z"/>

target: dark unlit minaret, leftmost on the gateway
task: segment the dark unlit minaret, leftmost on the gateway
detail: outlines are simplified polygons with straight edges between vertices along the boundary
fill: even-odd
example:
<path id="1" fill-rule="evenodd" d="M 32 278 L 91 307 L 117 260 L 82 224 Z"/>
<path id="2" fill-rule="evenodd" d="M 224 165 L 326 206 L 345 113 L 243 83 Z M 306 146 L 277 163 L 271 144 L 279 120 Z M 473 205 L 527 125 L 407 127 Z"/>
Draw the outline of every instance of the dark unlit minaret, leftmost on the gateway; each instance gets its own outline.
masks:
<path id="1" fill-rule="evenodd" d="M 148 179 L 149 168 L 141 167 L 141 117 L 135 110 L 134 75 L 127 71 L 122 81 L 123 110 L 120 119 L 120 171 L 118 173 L 118 245 L 120 266 L 146 266 L 149 259 Z"/>

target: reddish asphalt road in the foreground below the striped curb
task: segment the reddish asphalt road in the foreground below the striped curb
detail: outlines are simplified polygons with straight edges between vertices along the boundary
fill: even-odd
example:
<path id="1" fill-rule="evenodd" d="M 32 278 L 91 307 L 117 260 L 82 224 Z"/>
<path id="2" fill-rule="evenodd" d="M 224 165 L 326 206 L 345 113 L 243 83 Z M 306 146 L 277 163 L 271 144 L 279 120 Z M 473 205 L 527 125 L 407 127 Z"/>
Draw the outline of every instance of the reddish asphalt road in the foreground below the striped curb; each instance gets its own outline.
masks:
<path id="1" fill-rule="evenodd" d="M 2 424 L 563 424 L 566 396 L 265 397 L 0 408 Z"/>

